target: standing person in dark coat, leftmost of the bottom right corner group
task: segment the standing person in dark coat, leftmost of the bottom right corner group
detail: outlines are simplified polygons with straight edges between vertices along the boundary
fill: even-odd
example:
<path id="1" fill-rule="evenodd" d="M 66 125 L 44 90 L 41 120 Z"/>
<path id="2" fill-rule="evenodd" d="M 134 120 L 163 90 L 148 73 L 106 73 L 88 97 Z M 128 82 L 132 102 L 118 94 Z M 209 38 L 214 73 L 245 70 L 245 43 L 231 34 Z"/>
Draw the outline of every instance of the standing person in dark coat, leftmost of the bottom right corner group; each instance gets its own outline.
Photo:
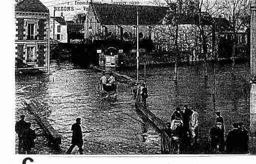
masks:
<path id="1" fill-rule="evenodd" d="M 223 153 L 225 148 L 224 130 L 222 122 L 216 122 L 215 126 L 210 130 L 211 148 L 213 153 Z"/>

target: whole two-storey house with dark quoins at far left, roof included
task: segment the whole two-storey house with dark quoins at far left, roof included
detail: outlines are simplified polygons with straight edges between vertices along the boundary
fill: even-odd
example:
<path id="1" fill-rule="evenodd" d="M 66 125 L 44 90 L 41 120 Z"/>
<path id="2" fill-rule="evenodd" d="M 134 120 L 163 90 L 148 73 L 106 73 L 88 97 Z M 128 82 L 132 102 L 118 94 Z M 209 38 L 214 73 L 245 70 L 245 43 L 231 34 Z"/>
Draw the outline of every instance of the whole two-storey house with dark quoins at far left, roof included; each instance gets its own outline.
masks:
<path id="1" fill-rule="evenodd" d="M 49 10 L 39 0 L 15 6 L 15 69 L 47 69 Z"/>

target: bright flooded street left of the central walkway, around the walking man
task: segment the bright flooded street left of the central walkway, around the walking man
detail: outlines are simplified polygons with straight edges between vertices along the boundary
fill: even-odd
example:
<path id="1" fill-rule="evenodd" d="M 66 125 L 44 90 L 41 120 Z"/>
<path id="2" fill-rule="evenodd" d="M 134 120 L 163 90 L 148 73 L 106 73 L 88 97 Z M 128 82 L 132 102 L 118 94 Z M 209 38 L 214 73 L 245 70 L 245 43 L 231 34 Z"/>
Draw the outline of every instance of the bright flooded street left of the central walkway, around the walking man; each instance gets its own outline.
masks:
<path id="1" fill-rule="evenodd" d="M 62 135 L 62 152 L 52 152 L 46 148 L 46 139 L 38 137 L 35 154 L 64 154 L 71 145 L 71 125 L 77 117 L 82 118 L 84 154 L 160 153 L 159 136 L 153 130 L 149 129 L 147 140 L 143 142 L 142 120 L 136 115 L 127 84 L 118 83 L 120 96 L 111 104 L 97 96 L 96 86 L 101 74 L 73 69 L 70 63 L 52 63 L 51 74 L 16 77 L 16 116 L 28 114 L 22 109 L 22 98 L 34 100 L 44 117 Z M 36 133 L 41 134 L 39 127 L 33 125 Z M 73 153 L 77 152 L 75 148 Z"/>

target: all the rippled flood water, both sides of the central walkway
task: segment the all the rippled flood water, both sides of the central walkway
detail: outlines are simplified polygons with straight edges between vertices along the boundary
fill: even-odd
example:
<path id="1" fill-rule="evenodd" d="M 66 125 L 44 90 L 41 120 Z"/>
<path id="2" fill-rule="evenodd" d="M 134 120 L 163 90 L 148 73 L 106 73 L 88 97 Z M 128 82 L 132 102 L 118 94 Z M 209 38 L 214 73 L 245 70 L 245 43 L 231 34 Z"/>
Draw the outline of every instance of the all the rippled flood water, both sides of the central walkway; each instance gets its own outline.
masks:
<path id="1" fill-rule="evenodd" d="M 136 78 L 135 70 L 119 70 Z M 82 118 L 84 154 L 159 154 L 159 134 L 145 124 L 135 112 L 127 83 L 118 82 L 118 101 L 100 100 L 96 86 L 100 73 L 75 67 L 72 63 L 52 62 L 51 75 L 16 76 L 16 120 L 25 114 L 32 122 L 37 138 L 34 154 L 64 154 L 71 145 L 71 125 Z M 200 138 L 208 139 L 215 121 L 213 108 L 214 71 L 209 66 L 209 78 L 203 76 L 203 65 L 183 66 L 178 69 L 178 85 L 172 81 L 173 67 L 147 68 L 149 109 L 168 121 L 176 105 L 184 103 L 196 107 L 200 115 Z M 141 68 L 140 79 L 144 77 Z M 234 121 L 249 124 L 249 67 L 247 64 L 216 66 L 216 110 L 221 110 L 226 131 Z M 41 114 L 62 135 L 61 151 L 47 146 L 42 130 L 21 104 L 21 99 L 33 100 Z M 147 129 L 147 128 L 146 128 Z M 145 134 L 146 133 L 146 134 Z M 145 136 L 146 140 L 144 137 Z M 17 150 L 17 141 L 16 141 Z M 75 148 L 73 154 L 78 154 Z"/>

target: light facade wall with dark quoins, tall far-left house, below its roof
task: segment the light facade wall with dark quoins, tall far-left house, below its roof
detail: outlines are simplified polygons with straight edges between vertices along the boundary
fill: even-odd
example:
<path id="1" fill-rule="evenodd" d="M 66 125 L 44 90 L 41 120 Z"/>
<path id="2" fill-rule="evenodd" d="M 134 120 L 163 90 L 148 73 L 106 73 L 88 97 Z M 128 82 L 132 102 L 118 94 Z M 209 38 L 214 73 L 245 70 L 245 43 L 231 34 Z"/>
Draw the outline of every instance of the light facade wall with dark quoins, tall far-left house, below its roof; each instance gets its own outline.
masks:
<path id="1" fill-rule="evenodd" d="M 28 23 L 34 23 L 34 37 L 28 37 Z M 47 68 L 48 13 L 15 12 L 15 68 Z M 35 58 L 27 61 L 27 47 L 34 47 Z"/>

